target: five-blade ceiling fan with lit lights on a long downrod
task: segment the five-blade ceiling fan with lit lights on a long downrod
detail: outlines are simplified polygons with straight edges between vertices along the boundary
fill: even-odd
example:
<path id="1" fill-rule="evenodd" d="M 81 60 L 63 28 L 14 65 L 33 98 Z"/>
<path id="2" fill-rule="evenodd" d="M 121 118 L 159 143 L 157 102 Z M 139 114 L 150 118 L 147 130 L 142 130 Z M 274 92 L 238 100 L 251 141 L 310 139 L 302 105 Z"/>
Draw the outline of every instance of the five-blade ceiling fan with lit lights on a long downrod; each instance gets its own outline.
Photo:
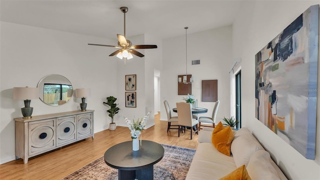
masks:
<path id="1" fill-rule="evenodd" d="M 92 44 L 88 43 L 88 45 L 99 45 L 99 46 L 107 46 L 107 47 L 115 47 L 120 48 L 114 52 L 112 52 L 109 56 L 113 56 L 116 54 L 116 56 L 120 59 L 123 57 L 130 59 L 132 58 L 132 54 L 137 55 L 139 57 L 143 57 L 144 55 L 134 49 L 146 49 L 146 48 L 157 48 L 156 45 L 132 45 L 131 41 L 128 39 L 125 39 L 125 13 L 128 11 L 127 7 L 120 7 L 121 12 L 124 14 L 124 35 L 116 34 L 118 38 L 118 45 L 103 45 L 103 44 Z"/>

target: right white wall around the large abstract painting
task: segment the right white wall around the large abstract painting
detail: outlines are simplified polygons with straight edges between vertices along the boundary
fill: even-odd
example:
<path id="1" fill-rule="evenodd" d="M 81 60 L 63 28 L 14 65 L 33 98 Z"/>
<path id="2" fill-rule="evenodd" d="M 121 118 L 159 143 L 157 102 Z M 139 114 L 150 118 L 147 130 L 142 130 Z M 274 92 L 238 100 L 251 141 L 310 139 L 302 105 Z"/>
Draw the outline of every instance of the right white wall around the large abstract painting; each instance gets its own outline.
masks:
<path id="1" fill-rule="evenodd" d="M 241 57 L 242 126 L 257 136 L 289 179 L 320 179 L 320 114 L 317 113 L 315 160 L 309 160 L 255 118 L 254 55 L 310 5 L 318 3 L 318 0 L 246 1 L 233 23 L 232 57 Z M 318 75 L 318 82 L 319 79 Z M 319 94 L 317 112 L 320 112 Z"/>

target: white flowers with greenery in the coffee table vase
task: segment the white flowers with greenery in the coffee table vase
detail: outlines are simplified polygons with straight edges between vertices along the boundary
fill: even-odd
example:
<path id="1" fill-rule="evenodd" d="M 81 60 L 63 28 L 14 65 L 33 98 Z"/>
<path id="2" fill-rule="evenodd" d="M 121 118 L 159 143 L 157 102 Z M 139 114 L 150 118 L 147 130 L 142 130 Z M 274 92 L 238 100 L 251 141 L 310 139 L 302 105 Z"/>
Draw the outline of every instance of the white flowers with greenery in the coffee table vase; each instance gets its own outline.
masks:
<path id="1" fill-rule="evenodd" d="M 132 121 L 126 117 L 124 118 L 126 124 L 128 125 L 131 131 L 131 139 L 138 138 L 140 136 L 141 130 L 143 130 L 146 121 L 149 118 L 150 112 L 151 111 L 149 111 L 143 118 L 138 118 L 136 120 L 132 119 Z"/>

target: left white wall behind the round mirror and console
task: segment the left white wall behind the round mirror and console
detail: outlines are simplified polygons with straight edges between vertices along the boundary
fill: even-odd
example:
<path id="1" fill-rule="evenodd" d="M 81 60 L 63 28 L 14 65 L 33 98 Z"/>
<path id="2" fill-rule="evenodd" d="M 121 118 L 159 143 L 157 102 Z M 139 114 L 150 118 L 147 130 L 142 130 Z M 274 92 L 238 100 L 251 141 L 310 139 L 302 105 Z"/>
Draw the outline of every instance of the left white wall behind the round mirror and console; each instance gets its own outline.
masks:
<path id="1" fill-rule="evenodd" d="M 3 21 L 0 25 L 0 163 L 14 159 L 13 118 L 22 116 L 20 108 L 24 106 L 23 100 L 12 99 L 12 88 L 36 87 L 48 74 L 65 76 L 73 88 L 91 88 L 86 102 L 87 109 L 95 110 L 94 132 L 108 128 L 110 118 L 102 102 L 117 92 L 113 86 L 118 80 L 114 75 L 117 63 L 108 56 L 114 49 L 87 43 L 115 41 Z M 80 109 L 80 101 L 73 96 L 63 105 L 50 106 L 32 99 L 32 115 Z"/>

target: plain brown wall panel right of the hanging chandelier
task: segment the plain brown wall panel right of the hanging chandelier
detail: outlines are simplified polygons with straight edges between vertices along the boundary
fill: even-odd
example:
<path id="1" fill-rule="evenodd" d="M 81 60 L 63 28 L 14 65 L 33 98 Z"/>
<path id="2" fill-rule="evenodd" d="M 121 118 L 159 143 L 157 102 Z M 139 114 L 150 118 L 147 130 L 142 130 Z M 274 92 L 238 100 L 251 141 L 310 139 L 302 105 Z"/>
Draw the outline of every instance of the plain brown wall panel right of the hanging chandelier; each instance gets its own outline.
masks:
<path id="1" fill-rule="evenodd" d="M 215 102 L 218 100 L 218 80 L 202 80 L 202 101 Z"/>

